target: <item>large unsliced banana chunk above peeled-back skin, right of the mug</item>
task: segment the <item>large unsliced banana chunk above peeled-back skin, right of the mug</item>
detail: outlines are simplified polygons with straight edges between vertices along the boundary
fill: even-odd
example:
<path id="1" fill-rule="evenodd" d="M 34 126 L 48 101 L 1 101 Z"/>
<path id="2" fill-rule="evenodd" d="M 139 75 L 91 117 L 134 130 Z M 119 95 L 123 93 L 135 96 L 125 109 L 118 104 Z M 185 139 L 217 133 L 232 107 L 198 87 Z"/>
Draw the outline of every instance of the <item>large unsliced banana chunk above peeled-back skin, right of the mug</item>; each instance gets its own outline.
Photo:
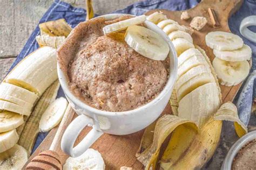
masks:
<path id="1" fill-rule="evenodd" d="M 196 88 L 179 102 L 178 116 L 196 122 L 201 128 L 220 107 L 216 83 Z"/>

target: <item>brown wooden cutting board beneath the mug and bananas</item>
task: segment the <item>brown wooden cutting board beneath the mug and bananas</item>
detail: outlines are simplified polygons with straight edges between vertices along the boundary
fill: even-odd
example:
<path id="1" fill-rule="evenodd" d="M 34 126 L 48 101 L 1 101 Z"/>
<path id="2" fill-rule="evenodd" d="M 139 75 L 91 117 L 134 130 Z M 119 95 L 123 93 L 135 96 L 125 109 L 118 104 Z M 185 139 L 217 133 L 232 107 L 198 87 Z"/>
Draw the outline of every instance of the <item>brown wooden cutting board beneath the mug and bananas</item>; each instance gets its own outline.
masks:
<path id="1" fill-rule="evenodd" d="M 221 30 L 221 31 L 230 31 L 228 27 L 228 17 L 237 11 L 241 4 L 242 0 L 205 0 L 199 3 L 192 9 L 187 10 L 191 18 L 196 16 L 204 16 L 208 20 L 208 24 L 200 30 L 200 32 L 195 31 L 193 34 L 194 43 L 199 45 L 201 48 L 205 49 L 207 55 L 212 60 L 214 55 L 212 49 L 208 48 L 205 44 L 205 35 L 208 32 Z M 211 24 L 211 19 L 208 14 L 208 8 L 214 9 L 218 22 L 220 26 L 214 28 Z M 162 11 L 168 18 L 176 20 L 181 25 L 189 26 L 190 20 L 184 21 L 180 19 L 180 14 L 182 11 L 169 11 L 169 10 L 152 10 L 146 13 L 150 15 L 155 11 Z M 233 87 L 220 86 L 221 93 L 223 95 L 223 101 L 232 101 L 235 94 L 237 94 L 241 84 Z M 150 113 L 149 113 L 150 114 Z M 171 108 L 169 105 L 166 106 L 163 114 L 171 114 Z M 73 117 L 75 118 L 76 115 Z M 79 135 L 77 142 L 83 139 L 83 137 L 90 131 L 91 128 L 85 128 Z M 52 139 L 55 136 L 57 128 L 50 131 L 48 136 L 43 140 L 42 144 L 37 148 L 37 150 L 31 155 L 29 161 L 38 155 L 40 152 L 48 150 L 51 145 Z M 110 134 L 103 134 L 96 143 L 94 143 L 91 148 L 98 150 L 105 161 L 106 169 L 119 169 L 121 166 L 132 167 L 133 169 L 143 169 L 143 165 L 137 161 L 135 154 L 138 150 L 140 144 L 140 138 L 142 137 L 143 130 L 125 135 L 125 136 L 114 136 Z M 60 139 L 59 139 L 60 141 Z M 59 144 L 60 145 L 60 144 Z M 68 158 L 68 155 L 63 153 L 60 150 L 58 145 L 57 152 L 62 159 L 64 164 L 65 160 Z"/>

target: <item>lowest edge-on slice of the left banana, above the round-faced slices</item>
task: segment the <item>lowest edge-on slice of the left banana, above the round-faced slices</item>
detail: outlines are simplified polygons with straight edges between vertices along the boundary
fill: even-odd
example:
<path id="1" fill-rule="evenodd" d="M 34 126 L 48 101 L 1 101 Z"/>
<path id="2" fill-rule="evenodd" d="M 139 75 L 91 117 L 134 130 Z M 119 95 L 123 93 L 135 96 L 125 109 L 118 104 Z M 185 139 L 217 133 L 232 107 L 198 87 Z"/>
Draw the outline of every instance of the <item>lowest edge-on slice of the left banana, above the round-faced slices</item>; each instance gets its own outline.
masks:
<path id="1" fill-rule="evenodd" d="M 24 108 L 21 105 L 11 103 L 8 101 L 0 100 L 0 110 L 7 110 L 11 112 L 16 112 L 17 114 L 29 116 L 31 114 L 31 109 Z"/>

